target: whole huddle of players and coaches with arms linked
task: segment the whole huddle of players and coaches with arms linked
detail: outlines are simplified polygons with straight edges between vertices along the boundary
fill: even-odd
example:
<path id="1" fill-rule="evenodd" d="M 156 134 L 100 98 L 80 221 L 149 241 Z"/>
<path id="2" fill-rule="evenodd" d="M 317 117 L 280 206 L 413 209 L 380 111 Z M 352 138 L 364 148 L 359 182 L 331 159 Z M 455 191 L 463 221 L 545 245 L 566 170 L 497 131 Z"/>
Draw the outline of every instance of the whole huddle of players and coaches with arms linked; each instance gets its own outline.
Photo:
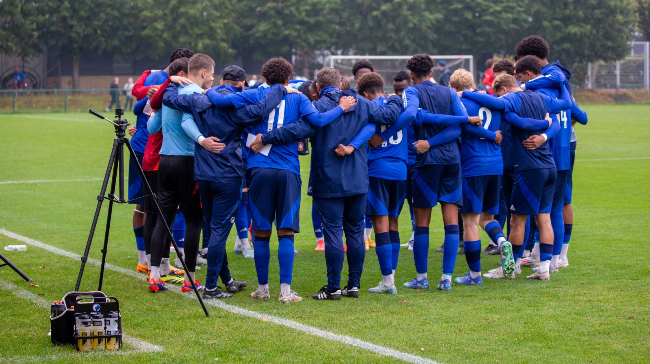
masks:
<path id="1" fill-rule="evenodd" d="M 315 250 L 324 251 L 327 268 L 327 282 L 313 298 L 358 297 L 371 246 L 382 280 L 370 293 L 397 293 L 395 271 L 405 245 L 413 250 L 416 272 L 403 287 L 428 289 L 429 225 L 438 203 L 445 235 L 437 289 L 450 291 L 452 280 L 483 285 L 483 278 L 513 279 L 522 265 L 533 270 L 526 278 L 550 280 L 550 273 L 569 265 L 573 125 L 587 117 L 571 96 L 571 73 L 558 61 L 549 63 L 548 55 L 543 38 L 523 39 L 515 64 L 493 66 L 487 90 L 477 89 L 465 69 L 456 69 L 448 85 L 436 84 L 432 58 L 414 55 L 406 64 L 410 73 L 395 75 L 389 95 L 367 60 L 352 69 L 356 88 L 331 67 L 313 81 L 291 80 L 293 67 L 281 57 L 262 67 L 266 82 L 248 87 L 246 72 L 229 66 L 220 86 L 212 87 L 212 58 L 177 49 L 170 66 L 144 72 L 133 88 L 138 121 L 129 134 L 138 159 L 129 168 L 129 200 L 137 204 L 137 271 L 148 273 L 153 292 L 167 284 L 190 291 L 194 281 L 204 298 L 231 297 L 246 287 L 228 269 L 226 243 L 236 224 L 233 252 L 255 261 L 258 287 L 250 296 L 268 300 L 275 224 L 278 300 L 302 300 L 291 281 L 300 230 L 298 155 L 309 140 Z M 142 197 L 142 181 L 131 172 L 135 163 L 142 164 L 155 197 Z M 412 235 L 400 245 L 405 201 Z M 500 266 L 485 274 L 479 228 L 490 238 L 484 252 L 501 257 Z M 170 263 L 172 238 L 187 272 L 178 258 Z M 454 279 L 461 253 L 469 273 Z M 345 256 L 348 280 L 341 287 Z M 205 285 L 194 277 L 201 265 L 207 266 Z"/>

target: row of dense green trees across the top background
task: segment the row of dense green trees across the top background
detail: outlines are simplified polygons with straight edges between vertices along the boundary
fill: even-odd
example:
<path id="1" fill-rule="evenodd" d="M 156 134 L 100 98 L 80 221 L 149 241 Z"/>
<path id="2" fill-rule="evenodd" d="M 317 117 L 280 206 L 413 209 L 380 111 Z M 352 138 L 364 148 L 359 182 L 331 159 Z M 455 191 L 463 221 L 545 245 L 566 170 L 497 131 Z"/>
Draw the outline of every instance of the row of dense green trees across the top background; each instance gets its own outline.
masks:
<path id="1" fill-rule="evenodd" d="M 539 34 L 569 67 L 617 60 L 650 36 L 650 0 L 0 0 L 0 51 L 59 47 L 73 87 L 83 53 L 166 58 L 176 47 L 217 61 L 316 54 L 512 55 Z"/>

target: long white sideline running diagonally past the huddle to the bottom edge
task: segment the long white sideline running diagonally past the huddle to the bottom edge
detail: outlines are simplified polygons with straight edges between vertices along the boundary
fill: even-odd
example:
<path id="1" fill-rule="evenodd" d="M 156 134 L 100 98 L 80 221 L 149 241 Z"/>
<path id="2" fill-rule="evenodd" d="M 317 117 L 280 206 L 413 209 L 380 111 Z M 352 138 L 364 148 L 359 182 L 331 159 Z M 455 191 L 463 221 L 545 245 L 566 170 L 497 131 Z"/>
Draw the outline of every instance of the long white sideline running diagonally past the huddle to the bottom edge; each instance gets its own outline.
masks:
<path id="1" fill-rule="evenodd" d="M 30 239 L 29 237 L 20 236 L 18 234 L 7 231 L 5 229 L 0 229 L 0 234 L 11 237 L 12 239 L 22 241 L 23 243 L 33 245 L 34 247 L 39 247 L 39 248 L 48 250 L 49 252 L 53 252 L 55 254 L 59 254 L 59 255 L 62 255 L 62 256 L 67 256 L 69 258 L 76 258 L 77 260 L 79 258 L 81 258 L 81 256 L 79 254 L 75 254 L 75 253 L 72 253 L 72 252 L 67 252 L 66 250 L 62 250 L 62 249 L 59 249 L 59 248 L 52 247 L 51 245 L 41 243 L 40 241 Z M 88 258 L 88 261 L 86 261 L 86 263 L 90 263 L 92 265 L 97 265 L 97 266 L 101 265 L 101 261 L 94 260 L 94 259 L 91 259 L 91 258 Z M 129 269 L 124 269 L 122 267 L 116 267 L 115 265 L 110 265 L 109 263 L 105 264 L 105 268 L 109 269 L 111 271 L 116 271 L 118 273 L 127 274 L 128 276 L 132 276 L 132 277 L 138 278 L 140 280 L 146 280 L 146 276 L 144 274 L 136 273 L 135 271 L 131 271 Z M 169 290 L 174 292 L 174 293 L 182 294 L 180 289 L 178 289 L 178 287 L 170 287 Z M 196 296 L 193 295 L 193 294 L 192 295 L 183 294 L 183 296 L 191 297 L 191 298 L 196 299 Z M 221 308 L 221 309 L 225 309 L 226 311 L 230 311 L 232 313 L 237 313 L 239 315 L 252 317 L 254 319 L 266 319 L 266 321 L 268 321 L 268 322 L 274 322 L 276 324 L 281 324 L 283 326 L 287 326 L 287 327 L 292 328 L 294 330 L 305 332 L 306 334 L 317 335 L 317 336 L 323 337 L 324 339 L 328 339 L 328 340 L 332 340 L 332 341 L 339 341 L 339 342 L 347 344 L 347 345 L 356 346 L 357 348 L 362 348 L 362 349 L 365 349 L 365 350 L 369 350 L 370 352 L 375 352 L 376 354 L 381 354 L 383 356 L 389 356 L 391 358 L 400 359 L 400 360 L 406 361 L 408 363 L 440 364 L 437 361 L 433 361 L 431 359 L 422 358 L 421 356 L 408 354 L 406 352 L 400 352 L 398 350 L 393 350 L 391 348 L 385 348 L 383 346 L 375 345 L 373 343 L 369 343 L 368 341 L 363 341 L 361 339 L 356 339 L 354 337 L 341 335 L 341 334 L 335 334 L 333 332 L 322 330 L 322 329 L 314 327 L 314 326 L 301 324 L 300 322 L 291 321 L 291 320 L 287 320 L 287 319 L 282 319 L 281 317 L 277 317 L 277 316 L 274 316 L 274 315 L 266 315 L 266 314 L 263 314 L 263 313 L 257 313 L 255 311 L 250 311 L 248 309 L 239 308 L 237 306 L 227 304 L 227 303 L 225 303 L 225 302 L 223 302 L 221 300 L 205 300 L 204 302 L 205 302 L 205 304 L 209 304 L 210 306 L 215 306 L 215 307 L 218 307 L 218 308 Z M 49 306 L 47 306 L 47 307 L 49 308 Z"/>

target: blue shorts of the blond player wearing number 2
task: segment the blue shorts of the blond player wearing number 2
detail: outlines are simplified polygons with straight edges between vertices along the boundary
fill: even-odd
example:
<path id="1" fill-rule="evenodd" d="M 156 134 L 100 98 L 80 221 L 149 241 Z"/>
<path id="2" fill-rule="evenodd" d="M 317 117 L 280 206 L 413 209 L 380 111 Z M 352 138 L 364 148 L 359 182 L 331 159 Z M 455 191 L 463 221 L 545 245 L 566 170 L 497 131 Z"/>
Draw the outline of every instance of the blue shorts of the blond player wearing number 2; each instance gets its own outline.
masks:
<path id="1" fill-rule="evenodd" d="M 500 175 L 463 177 L 461 213 L 499 213 Z"/>

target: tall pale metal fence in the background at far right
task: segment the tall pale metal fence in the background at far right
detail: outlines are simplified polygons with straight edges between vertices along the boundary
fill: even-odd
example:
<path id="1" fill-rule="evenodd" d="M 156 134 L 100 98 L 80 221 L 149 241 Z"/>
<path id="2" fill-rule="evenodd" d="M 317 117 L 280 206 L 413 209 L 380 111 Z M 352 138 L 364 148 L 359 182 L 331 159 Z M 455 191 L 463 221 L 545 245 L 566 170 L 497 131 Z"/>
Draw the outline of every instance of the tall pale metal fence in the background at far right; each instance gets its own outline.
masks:
<path id="1" fill-rule="evenodd" d="M 615 62 L 589 62 L 586 88 L 650 90 L 650 42 L 630 42 L 630 55 Z"/>

